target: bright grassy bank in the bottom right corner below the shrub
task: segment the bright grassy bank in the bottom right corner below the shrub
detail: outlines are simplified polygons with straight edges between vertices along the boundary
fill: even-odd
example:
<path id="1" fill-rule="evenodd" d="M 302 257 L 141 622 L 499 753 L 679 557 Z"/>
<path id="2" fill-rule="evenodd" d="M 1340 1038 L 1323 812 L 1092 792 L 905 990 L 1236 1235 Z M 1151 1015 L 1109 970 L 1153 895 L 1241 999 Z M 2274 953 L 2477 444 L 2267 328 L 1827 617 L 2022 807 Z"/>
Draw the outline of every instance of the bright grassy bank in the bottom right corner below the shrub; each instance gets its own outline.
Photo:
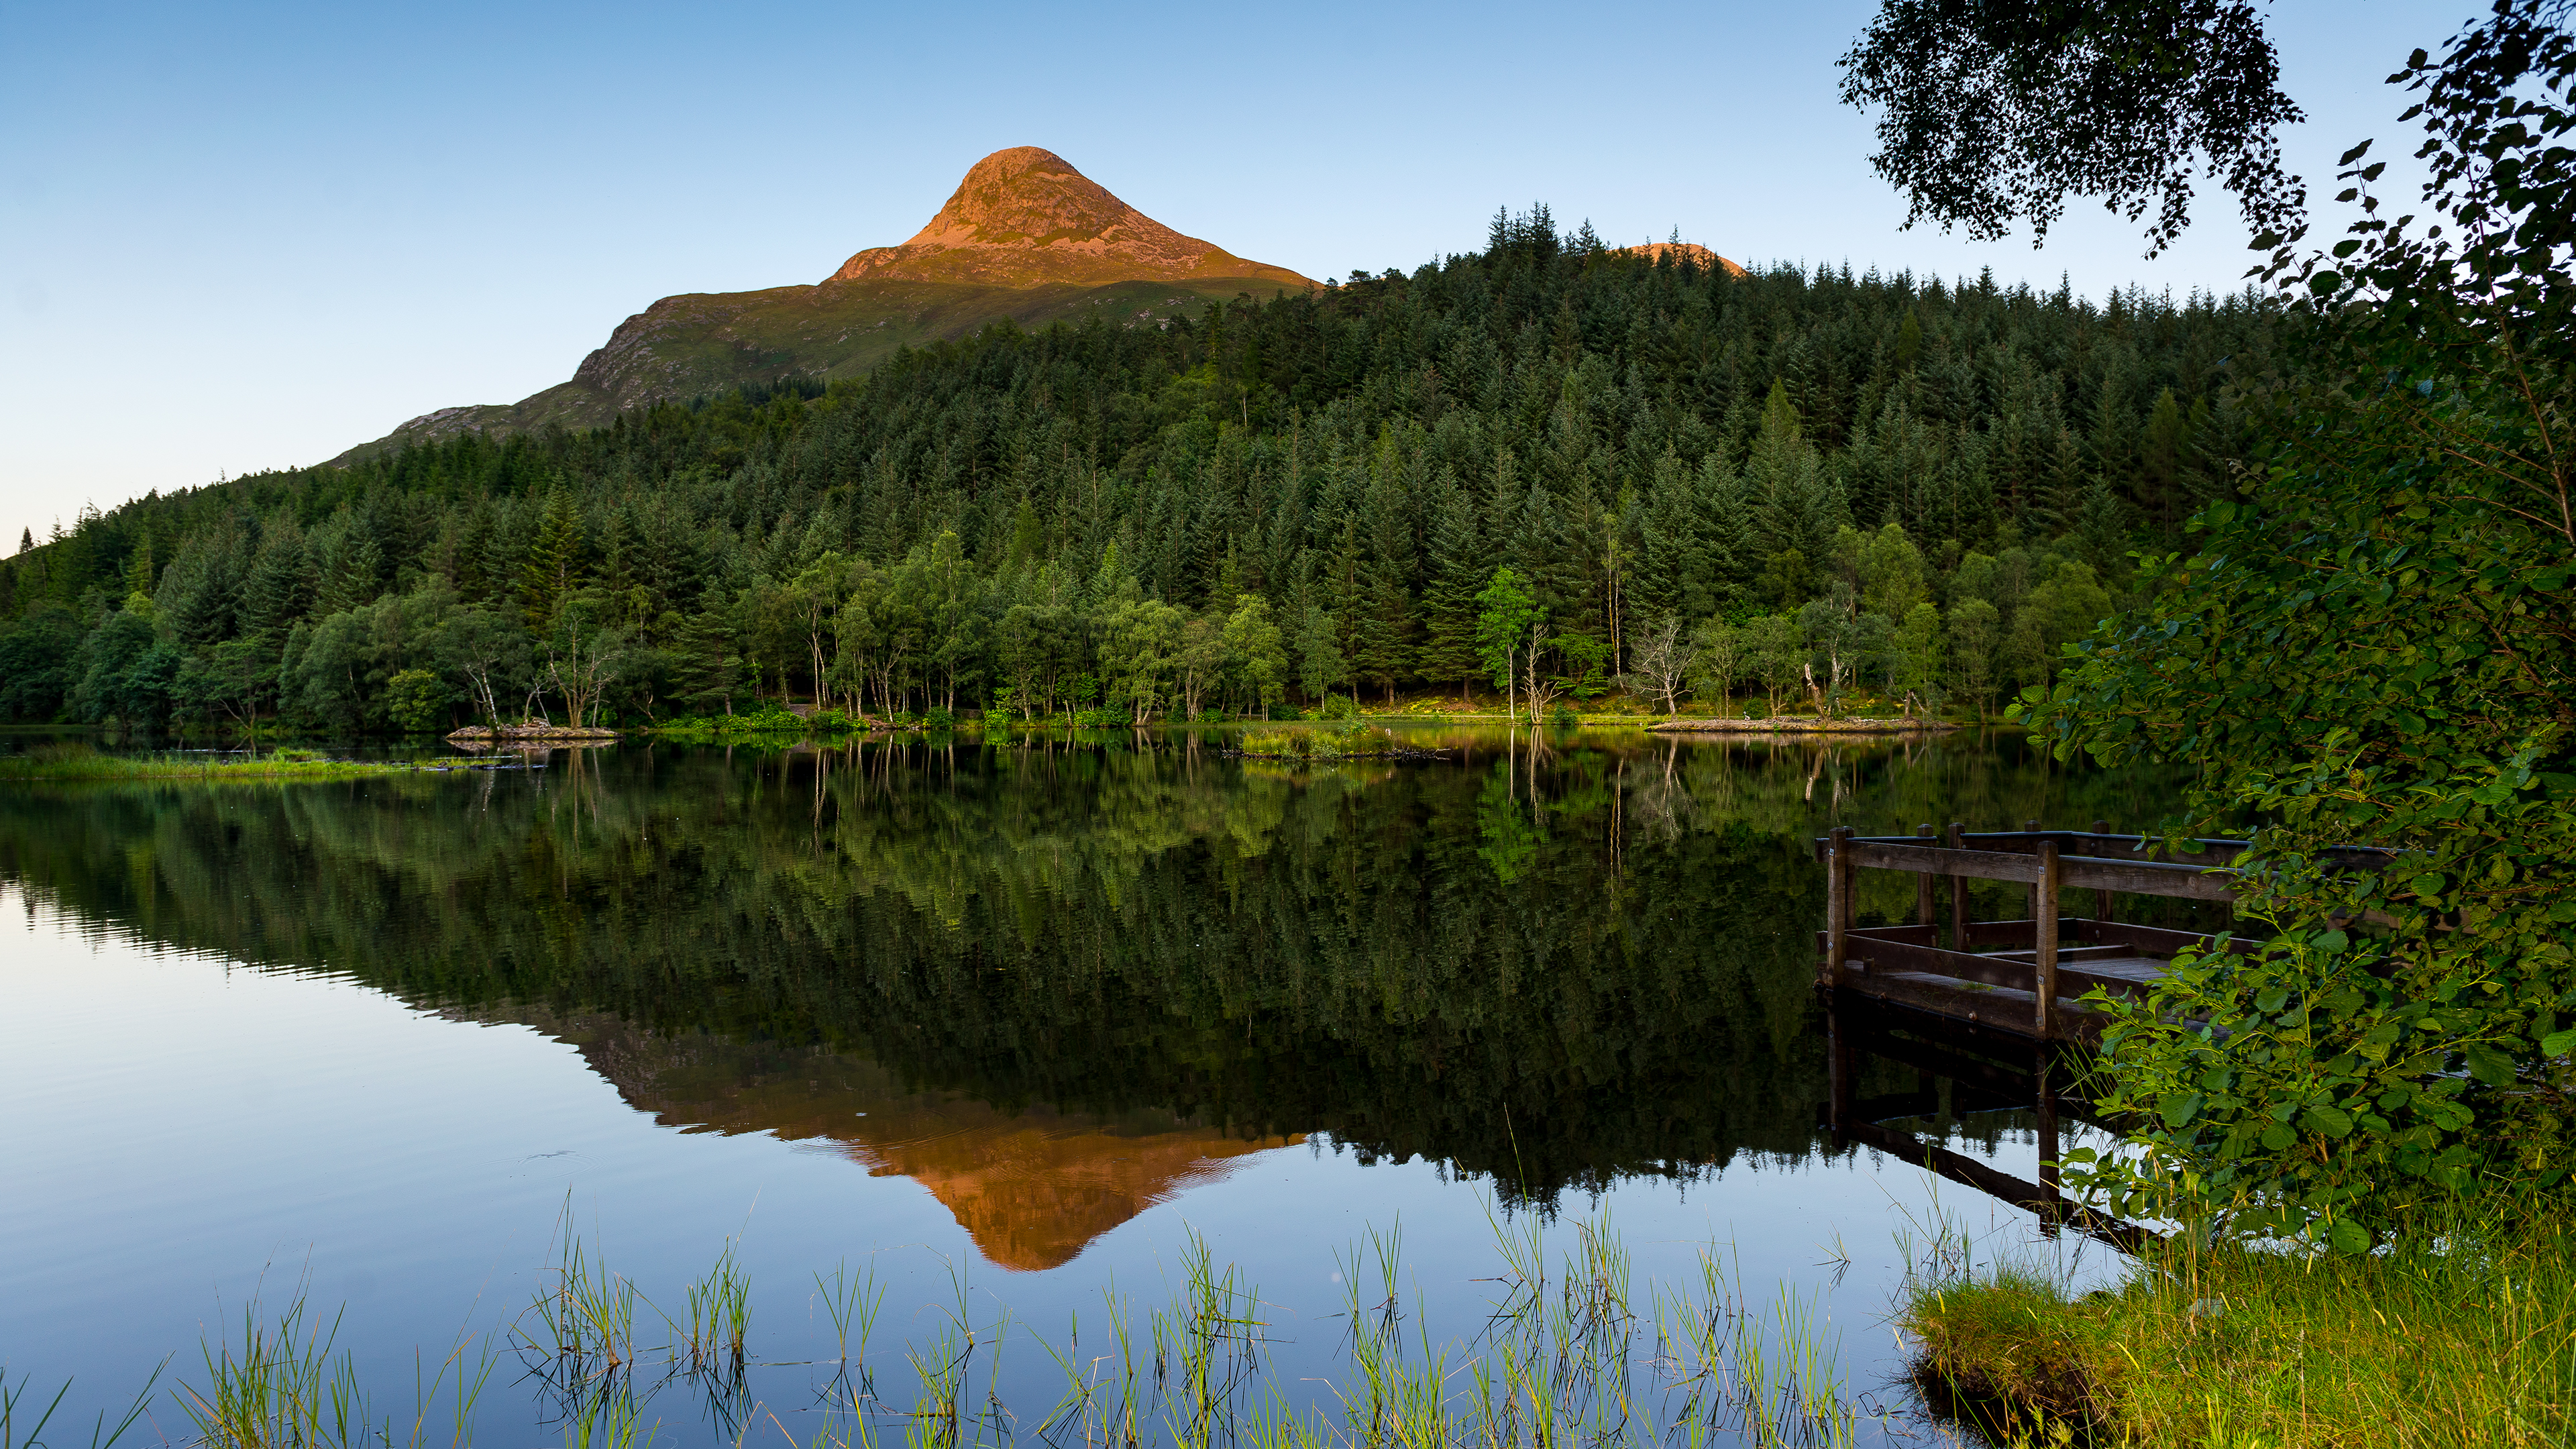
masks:
<path id="1" fill-rule="evenodd" d="M 2375 1256 L 2156 1248 L 2120 1289 L 2002 1266 L 1899 1312 L 1929 1400 L 2007 1444 L 2576 1441 L 2566 1196 L 2455 1212 Z"/>

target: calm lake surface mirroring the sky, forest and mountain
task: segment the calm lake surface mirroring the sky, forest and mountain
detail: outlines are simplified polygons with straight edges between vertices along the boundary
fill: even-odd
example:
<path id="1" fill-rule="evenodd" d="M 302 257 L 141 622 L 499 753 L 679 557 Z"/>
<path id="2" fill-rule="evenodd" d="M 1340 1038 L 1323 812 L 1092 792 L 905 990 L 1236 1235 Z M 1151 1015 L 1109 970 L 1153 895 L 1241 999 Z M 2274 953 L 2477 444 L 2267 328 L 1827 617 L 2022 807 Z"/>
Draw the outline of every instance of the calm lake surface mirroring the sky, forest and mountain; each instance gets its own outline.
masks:
<path id="1" fill-rule="evenodd" d="M 1218 1333 L 1234 1382 L 1340 1423 L 1358 1323 L 1455 1369 L 1538 1232 L 1548 1263 L 1618 1248 L 1638 1382 L 1687 1289 L 1829 1348 L 1860 1441 L 1945 1441 L 1886 1323 L 1932 1225 L 2110 1263 L 1834 1140 L 1811 841 L 2136 825 L 2166 781 L 2014 735 L 1419 740 L 1445 758 L 623 743 L 0 786 L 0 1369 L 72 1379 L 72 1441 L 170 1359 L 134 1434 L 188 1441 L 170 1390 L 301 1299 L 397 1444 L 582 1444 L 603 1392 L 636 1444 L 858 1444 L 853 1395 L 871 1434 L 940 1441 L 912 1413 L 956 1359 L 958 1441 L 1090 1441 L 1051 1421 L 1066 1364 L 1100 1382 L 1162 1343 L 1151 1382 L 1185 1382 L 1203 1253 L 1200 1292 L 1231 1266 L 1249 1305 L 1216 1318 L 1257 1320 Z M 1865 923 L 1911 910 L 1904 877 L 1873 890 Z M 2027 1114 L 1917 1129 L 2035 1171 Z M 636 1294 L 621 1369 L 531 1307 L 569 1240 Z M 744 1361 L 688 1372 L 665 1320 L 726 1250 Z M 850 1284 L 881 1294 L 866 1338 L 832 1323 Z M 489 1377 L 461 1431 L 415 1431 L 415 1369 L 451 1351 Z M 1190 1436 L 1170 1400 L 1144 1441 Z M 1759 1418 L 1633 1413 L 1692 1444 Z"/>

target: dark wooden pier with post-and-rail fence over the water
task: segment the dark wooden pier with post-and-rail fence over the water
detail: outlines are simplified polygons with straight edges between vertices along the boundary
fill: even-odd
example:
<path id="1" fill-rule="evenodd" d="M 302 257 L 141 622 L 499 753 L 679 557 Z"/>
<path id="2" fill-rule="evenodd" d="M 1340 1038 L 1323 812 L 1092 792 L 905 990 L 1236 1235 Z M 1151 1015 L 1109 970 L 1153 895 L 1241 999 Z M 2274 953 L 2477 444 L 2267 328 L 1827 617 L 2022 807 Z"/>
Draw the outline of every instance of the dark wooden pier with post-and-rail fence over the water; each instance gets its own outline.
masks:
<path id="1" fill-rule="evenodd" d="M 1850 828 L 1816 841 L 1826 864 L 1824 959 L 1816 985 L 1837 998 L 1857 995 L 1901 1006 L 2007 1036 L 2089 1042 L 2102 1016 L 2076 998 L 2089 990 L 2143 995 L 2164 975 L 2174 951 L 2208 941 L 2200 931 L 2130 926 L 2112 910 L 2115 895 L 2182 900 L 2236 900 L 2236 871 L 2226 866 L 2244 841 L 2195 841 L 2197 856 L 2166 859 L 2143 835 L 2092 830 L 1968 833 L 1929 825 L 1914 835 L 1852 835 Z M 1855 926 L 1857 871 L 1914 874 L 1911 926 Z M 1973 920 L 1968 882 L 2027 887 L 2020 920 Z M 1940 887 L 1947 882 L 1947 890 Z M 2092 897 L 2092 915 L 2066 915 L 2066 905 Z M 1947 897 L 1947 944 L 1940 902 Z M 2251 941 L 2228 938 L 2236 951 Z"/>

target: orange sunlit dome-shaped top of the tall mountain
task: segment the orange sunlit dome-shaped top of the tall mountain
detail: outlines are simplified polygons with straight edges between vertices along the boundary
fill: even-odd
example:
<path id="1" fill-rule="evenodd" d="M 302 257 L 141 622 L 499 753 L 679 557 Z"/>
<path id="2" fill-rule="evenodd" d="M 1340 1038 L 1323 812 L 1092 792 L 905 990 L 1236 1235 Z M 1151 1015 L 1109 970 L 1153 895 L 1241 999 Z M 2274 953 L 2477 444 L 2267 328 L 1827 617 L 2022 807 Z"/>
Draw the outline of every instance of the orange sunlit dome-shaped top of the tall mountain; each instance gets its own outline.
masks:
<path id="1" fill-rule="evenodd" d="M 1046 286 L 1257 276 L 1314 286 L 1283 268 L 1244 260 L 1216 242 L 1182 237 L 1110 196 L 1043 147 L 992 152 L 966 170 L 940 214 L 899 248 L 868 248 L 829 281 L 971 281 Z"/>

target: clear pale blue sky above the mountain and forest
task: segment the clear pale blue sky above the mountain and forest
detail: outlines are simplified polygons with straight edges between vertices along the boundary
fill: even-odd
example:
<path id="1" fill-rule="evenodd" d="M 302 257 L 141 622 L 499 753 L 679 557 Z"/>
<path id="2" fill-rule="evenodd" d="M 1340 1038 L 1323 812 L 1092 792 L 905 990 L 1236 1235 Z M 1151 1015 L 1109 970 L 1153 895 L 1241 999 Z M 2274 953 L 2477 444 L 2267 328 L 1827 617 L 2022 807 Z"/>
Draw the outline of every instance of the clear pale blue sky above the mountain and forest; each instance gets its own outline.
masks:
<path id="1" fill-rule="evenodd" d="M 2223 199 L 2154 263 L 2099 209 L 2038 253 L 1901 232 L 1834 98 L 1873 8 L 8 0 L 0 547 L 513 402 L 672 291 L 819 281 L 1010 144 L 1309 276 L 1543 199 L 1749 263 L 2239 286 Z M 2277 3 L 2293 165 L 2388 155 L 2380 77 L 2478 8 Z"/>

